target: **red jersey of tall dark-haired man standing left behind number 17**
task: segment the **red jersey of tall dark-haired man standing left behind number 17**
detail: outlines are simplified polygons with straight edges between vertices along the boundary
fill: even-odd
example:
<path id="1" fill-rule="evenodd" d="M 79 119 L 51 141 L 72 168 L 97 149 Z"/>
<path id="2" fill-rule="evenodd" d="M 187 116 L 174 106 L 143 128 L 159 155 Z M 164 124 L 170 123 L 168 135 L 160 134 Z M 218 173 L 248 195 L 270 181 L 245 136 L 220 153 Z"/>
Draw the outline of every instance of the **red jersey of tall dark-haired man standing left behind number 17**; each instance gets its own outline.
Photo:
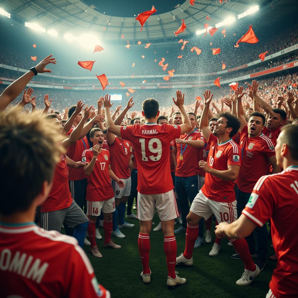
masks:
<path id="1" fill-rule="evenodd" d="M 66 134 L 66 136 L 69 136 L 74 129 L 75 129 L 75 126 L 72 126 L 72 128 Z M 67 156 L 75 162 L 80 162 L 82 159 L 83 151 L 89 148 L 90 148 L 90 145 L 89 145 L 87 136 L 84 136 L 83 139 L 77 140 L 77 142 L 75 142 L 74 145 L 71 145 L 67 149 Z M 69 170 L 68 180 L 82 180 L 87 178 L 83 167 L 80 167 L 79 169 L 69 167 L 68 170 Z"/>

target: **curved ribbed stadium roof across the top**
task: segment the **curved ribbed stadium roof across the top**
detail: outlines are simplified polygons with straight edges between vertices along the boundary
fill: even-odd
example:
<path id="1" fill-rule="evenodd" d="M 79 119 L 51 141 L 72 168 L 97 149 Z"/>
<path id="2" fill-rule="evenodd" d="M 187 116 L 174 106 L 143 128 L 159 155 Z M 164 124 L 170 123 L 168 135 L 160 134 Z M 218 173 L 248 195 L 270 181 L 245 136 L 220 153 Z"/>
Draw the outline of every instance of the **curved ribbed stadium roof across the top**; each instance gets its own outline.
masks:
<path id="1" fill-rule="evenodd" d="M 259 5 L 262 13 L 270 7 L 278 9 L 279 5 L 293 5 L 291 0 L 223 0 L 222 3 L 219 0 L 195 0 L 194 5 L 190 5 L 189 0 L 181 4 L 177 3 L 179 0 L 159 0 L 156 4 L 148 0 L 106 0 L 98 4 L 95 0 L 85 1 L 88 4 L 78 0 L 4 0 L 1 1 L 1 8 L 21 22 L 38 23 L 47 30 L 56 30 L 59 35 L 77 35 L 88 31 L 97 33 L 102 40 L 122 41 L 123 34 L 124 41 L 136 42 L 173 38 L 182 23 L 181 19 L 184 19 L 187 28 L 179 37 L 195 34 L 197 30 L 204 29 L 207 22 L 215 27 L 225 17 L 238 19 L 238 14 L 253 5 Z M 134 15 L 150 10 L 152 4 L 157 12 L 148 18 L 140 31 L 141 26 Z M 207 15 L 210 21 L 206 20 Z"/>

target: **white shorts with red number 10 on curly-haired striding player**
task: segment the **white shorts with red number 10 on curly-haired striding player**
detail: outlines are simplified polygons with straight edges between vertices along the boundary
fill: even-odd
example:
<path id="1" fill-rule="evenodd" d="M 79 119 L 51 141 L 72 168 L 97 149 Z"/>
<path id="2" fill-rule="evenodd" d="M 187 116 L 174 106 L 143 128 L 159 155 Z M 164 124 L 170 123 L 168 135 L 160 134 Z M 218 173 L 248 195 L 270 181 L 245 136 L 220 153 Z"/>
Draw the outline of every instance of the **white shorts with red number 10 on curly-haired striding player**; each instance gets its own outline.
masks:
<path id="1" fill-rule="evenodd" d="M 231 223 L 237 219 L 237 201 L 233 202 L 217 202 L 210 200 L 204 196 L 202 191 L 195 196 L 190 206 L 190 211 L 207 220 L 212 213 L 215 215 L 218 223 Z"/>

